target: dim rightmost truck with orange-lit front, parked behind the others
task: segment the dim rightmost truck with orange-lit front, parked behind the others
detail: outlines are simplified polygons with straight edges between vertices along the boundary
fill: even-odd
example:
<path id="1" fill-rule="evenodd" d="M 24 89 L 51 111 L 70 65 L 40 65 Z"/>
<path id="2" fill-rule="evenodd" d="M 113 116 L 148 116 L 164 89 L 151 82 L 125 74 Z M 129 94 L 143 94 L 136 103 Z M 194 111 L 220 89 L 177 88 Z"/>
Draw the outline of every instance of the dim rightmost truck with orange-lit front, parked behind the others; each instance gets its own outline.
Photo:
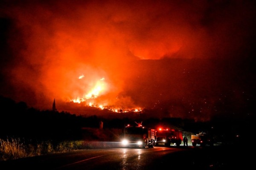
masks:
<path id="1" fill-rule="evenodd" d="M 191 135 L 191 143 L 192 146 L 196 146 L 197 144 L 200 146 L 213 146 L 214 141 L 209 134 L 201 132 L 196 135 Z"/>

